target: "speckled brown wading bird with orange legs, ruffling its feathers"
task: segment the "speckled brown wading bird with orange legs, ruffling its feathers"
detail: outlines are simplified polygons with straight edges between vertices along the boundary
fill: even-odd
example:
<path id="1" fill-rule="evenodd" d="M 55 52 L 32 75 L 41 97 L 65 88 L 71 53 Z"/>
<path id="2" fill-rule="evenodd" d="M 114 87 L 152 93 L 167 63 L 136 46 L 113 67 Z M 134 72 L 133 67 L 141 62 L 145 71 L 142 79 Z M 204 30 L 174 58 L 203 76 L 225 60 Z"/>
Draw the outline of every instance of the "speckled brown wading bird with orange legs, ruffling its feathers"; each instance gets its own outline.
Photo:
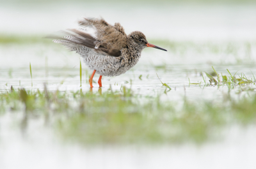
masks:
<path id="1" fill-rule="evenodd" d="M 130 70 L 139 61 L 144 48 L 167 51 L 148 43 L 140 31 L 126 34 L 119 22 L 111 25 L 104 18 L 83 18 L 78 24 L 79 29 L 67 29 L 62 31 L 65 36 L 51 38 L 54 38 L 54 43 L 60 43 L 83 57 L 86 66 L 93 70 L 90 87 L 93 87 L 95 73 L 100 75 L 98 84 L 102 87 L 102 76 L 115 77 Z M 89 33 L 88 29 L 94 33 Z"/>

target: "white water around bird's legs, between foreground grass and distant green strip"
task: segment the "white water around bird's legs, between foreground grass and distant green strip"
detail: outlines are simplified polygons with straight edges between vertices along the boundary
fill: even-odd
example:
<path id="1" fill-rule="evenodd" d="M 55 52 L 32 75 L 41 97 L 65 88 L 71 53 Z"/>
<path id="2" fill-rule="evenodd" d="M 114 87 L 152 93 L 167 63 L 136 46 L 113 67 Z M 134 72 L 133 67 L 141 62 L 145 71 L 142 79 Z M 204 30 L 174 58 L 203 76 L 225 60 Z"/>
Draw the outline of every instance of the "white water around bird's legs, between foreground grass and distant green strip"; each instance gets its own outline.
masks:
<path id="1" fill-rule="evenodd" d="M 6 45 L 6 47 L 2 47 L 1 55 L 5 55 L 5 58 L 8 59 L 1 57 L 0 80 L 2 83 L 0 91 L 10 90 L 11 85 L 14 89 L 23 87 L 29 90 L 44 90 L 44 83 L 47 84 L 50 91 L 55 91 L 56 89 L 60 91 L 77 91 L 80 89 L 83 89 L 84 92 L 89 91 L 88 78 L 92 70 L 88 70 L 82 63 L 83 76 L 82 87 L 80 87 L 79 55 L 75 52 L 68 52 L 68 50 L 58 47 L 56 44 L 50 44 L 23 45 L 22 47 L 20 45 Z M 17 51 L 11 50 L 13 47 L 17 47 Z M 33 48 L 33 50 L 30 50 L 30 48 Z M 241 73 L 244 73 L 249 79 L 253 78 L 252 73 L 256 74 L 254 47 L 251 49 L 249 59 L 244 55 L 236 56 L 230 54 L 225 62 L 220 59 L 221 55 L 225 54 L 223 52 L 214 55 L 208 52 L 207 49 L 204 49 L 205 51 L 202 52 L 195 52 L 193 47 L 188 47 L 186 48 L 186 53 L 188 54 L 180 55 L 175 54 L 172 48 L 167 49 L 170 52 L 147 48 L 143 52 L 138 64 L 124 75 L 103 77 L 102 91 L 108 91 L 110 86 L 111 89 L 119 91 L 121 86 L 126 86 L 131 87 L 134 94 L 157 96 L 157 94 L 163 93 L 166 89 L 161 84 L 162 81 L 172 88 L 171 91 L 167 92 L 166 96 L 163 96 L 165 99 L 181 101 L 184 99 L 184 96 L 191 100 L 218 99 L 223 92 L 228 92 L 228 86 L 222 85 L 218 87 L 214 86 L 214 84 L 209 85 L 209 78 L 207 78 L 204 72 L 213 72 L 212 66 L 220 75 L 223 73 L 223 75 L 229 76 L 227 69 L 232 75 L 236 73 L 237 78 L 241 76 Z M 202 55 L 205 53 L 213 57 L 202 58 Z M 17 61 L 17 59 L 20 60 Z M 29 62 L 32 68 L 32 80 Z M 93 78 L 95 80 L 93 91 L 97 91 L 99 88 L 97 78 L 99 78 L 99 75 L 95 75 Z M 189 80 L 191 83 L 201 84 L 189 85 Z M 254 89 L 255 85 L 244 85 L 245 89 L 248 87 Z M 239 89 L 241 87 L 236 86 L 233 92 Z"/>

